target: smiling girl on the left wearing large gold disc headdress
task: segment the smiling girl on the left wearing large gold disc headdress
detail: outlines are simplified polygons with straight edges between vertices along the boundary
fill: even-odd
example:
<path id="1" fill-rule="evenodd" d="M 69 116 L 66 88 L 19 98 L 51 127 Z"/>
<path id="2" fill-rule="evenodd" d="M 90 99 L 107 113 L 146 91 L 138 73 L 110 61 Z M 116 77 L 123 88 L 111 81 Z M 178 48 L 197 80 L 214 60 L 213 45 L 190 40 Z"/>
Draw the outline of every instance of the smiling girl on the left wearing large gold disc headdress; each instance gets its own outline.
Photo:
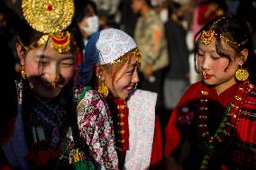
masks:
<path id="1" fill-rule="evenodd" d="M 67 28 L 74 3 L 23 0 L 22 5 L 18 116 L 14 136 L 2 148 L 18 169 L 67 169 L 84 156 L 72 150 L 78 147 L 72 89 L 79 50 Z"/>

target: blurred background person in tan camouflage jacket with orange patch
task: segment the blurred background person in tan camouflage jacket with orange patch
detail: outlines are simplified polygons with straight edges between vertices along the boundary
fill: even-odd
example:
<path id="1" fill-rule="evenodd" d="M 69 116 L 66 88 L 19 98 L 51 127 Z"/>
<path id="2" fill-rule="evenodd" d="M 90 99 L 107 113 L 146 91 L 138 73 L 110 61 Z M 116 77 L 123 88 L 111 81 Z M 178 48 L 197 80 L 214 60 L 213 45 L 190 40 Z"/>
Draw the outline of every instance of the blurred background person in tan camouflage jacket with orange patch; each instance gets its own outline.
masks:
<path id="1" fill-rule="evenodd" d="M 164 25 L 154 11 L 150 0 L 133 0 L 133 12 L 140 13 L 134 31 L 134 39 L 142 52 L 139 88 L 158 94 L 156 110 L 163 108 L 163 68 L 169 64 L 164 35 Z"/>

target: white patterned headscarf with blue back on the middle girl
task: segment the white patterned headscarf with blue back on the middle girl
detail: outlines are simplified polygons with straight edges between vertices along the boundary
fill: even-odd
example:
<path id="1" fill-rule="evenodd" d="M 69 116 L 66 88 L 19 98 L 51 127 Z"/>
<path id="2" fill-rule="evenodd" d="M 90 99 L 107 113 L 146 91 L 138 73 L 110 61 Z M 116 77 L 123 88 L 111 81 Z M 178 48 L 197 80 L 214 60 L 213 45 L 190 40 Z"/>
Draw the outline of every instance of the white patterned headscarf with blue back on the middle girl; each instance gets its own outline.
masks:
<path id="1" fill-rule="evenodd" d="M 87 42 L 85 56 L 78 70 L 77 85 L 86 86 L 89 83 L 96 63 L 111 64 L 135 48 L 137 48 L 137 44 L 133 38 L 118 29 L 110 28 L 92 34 Z"/>

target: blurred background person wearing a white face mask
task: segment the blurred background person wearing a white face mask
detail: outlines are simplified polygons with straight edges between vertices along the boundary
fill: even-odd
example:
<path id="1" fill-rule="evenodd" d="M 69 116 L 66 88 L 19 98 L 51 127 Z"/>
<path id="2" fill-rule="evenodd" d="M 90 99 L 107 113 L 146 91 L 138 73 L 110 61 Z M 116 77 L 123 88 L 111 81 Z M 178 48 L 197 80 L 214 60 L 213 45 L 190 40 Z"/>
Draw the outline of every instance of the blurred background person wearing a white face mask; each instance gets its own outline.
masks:
<path id="1" fill-rule="evenodd" d="M 77 3 L 72 24 L 77 28 L 75 37 L 78 40 L 78 46 L 84 51 L 89 37 L 99 30 L 99 19 L 95 2 L 88 0 Z"/>

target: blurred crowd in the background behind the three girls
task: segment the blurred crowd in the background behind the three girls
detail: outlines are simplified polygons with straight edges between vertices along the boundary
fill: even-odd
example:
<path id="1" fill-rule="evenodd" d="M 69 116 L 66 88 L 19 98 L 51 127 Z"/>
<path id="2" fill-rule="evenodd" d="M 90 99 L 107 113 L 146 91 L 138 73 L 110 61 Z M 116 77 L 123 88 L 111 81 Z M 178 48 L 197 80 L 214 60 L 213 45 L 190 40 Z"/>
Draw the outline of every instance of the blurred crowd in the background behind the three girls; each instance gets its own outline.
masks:
<path id="1" fill-rule="evenodd" d="M 237 14 L 248 22 L 256 39 L 254 0 L 95 0 L 86 10 L 82 2 L 75 1 L 74 18 L 83 37 L 80 48 L 85 48 L 91 33 L 105 28 L 131 35 L 142 52 L 138 87 L 158 93 L 162 127 L 187 86 L 200 80 L 194 68 L 194 36 L 206 22 L 224 13 Z M 0 10 L 1 41 L 12 49 L 23 19 L 21 0 L 2 0 Z M 96 16 L 90 19 L 90 30 L 84 20 L 88 16 Z"/>

